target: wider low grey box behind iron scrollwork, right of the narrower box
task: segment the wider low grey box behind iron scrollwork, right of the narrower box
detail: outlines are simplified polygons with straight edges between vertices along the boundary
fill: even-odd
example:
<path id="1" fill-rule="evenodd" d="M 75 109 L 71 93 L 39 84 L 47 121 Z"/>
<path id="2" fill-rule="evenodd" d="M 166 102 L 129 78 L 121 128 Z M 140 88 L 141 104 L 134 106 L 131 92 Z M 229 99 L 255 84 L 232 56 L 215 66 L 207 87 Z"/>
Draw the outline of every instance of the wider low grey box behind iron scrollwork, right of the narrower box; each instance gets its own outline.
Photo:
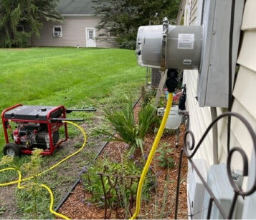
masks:
<path id="1" fill-rule="evenodd" d="M 229 179 L 227 176 L 227 167 L 226 164 L 212 165 L 207 174 L 207 184 L 212 190 L 214 196 L 219 201 L 219 204 L 224 209 L 225 214 L 228 216 L 229 209 L 232 204 L 232 199 L 234 197 L 234 191 L 229 183 Z M 204 194 L 204 205 L 203 205 L 203 214 L 202 219 L 207 219 L 207 212 L 209 207 L 209 199 L 210 195 L 208 191 L 205 191 Z M 243 201 L 242 198 L 238 197 L 237 204 L 234 207 L 234 213 L 232 219 L 241 219 L 242 218 L 242 207 Z M 210 219 L 224 219 L 219 213 L 219 209 L 217 206 L 212 205 L 212 212 Z"/>

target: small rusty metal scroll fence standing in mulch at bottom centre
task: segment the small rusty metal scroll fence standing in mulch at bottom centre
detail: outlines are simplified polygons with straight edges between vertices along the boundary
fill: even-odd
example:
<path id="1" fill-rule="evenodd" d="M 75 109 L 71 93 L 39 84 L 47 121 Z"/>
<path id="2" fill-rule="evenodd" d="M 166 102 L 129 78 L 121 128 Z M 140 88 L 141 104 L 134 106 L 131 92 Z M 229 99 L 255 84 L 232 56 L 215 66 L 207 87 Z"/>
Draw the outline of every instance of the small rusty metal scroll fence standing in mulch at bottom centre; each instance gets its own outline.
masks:
<path id="1" fill-rule="evenodd" d="M 140 181 L 140 176 L 122 176 L 122 175 L 112 175 L 107 174 L 108 167 L 104 166 L 103 173 L 99 173 L 101 183 L 103 185 L 104 191 L 104 205 L 105 205 L 105 219 L 110 219 L 112 211 L 115 210 L 116 216 L 118 219 L 123 219 L 125 216 L 124 214 L 120 214 L 118 209 L 120 208 L 120 204 L 123 204 L 123 201 L 126 199 L 125 195 L 126 192 L 130 194 L 128 198 L 128 210 L 131 216 L 133 215 L 132 209 L 134 204 L 136 203 L 136 191 L 138 189 L 138 182 Z M 106 183 L 110 186 L 109 189 L 106 189 Z M 136 183 L 136 191 L 133 192 L 132 186 Z M 120 186 L 123 186 L 123 191 L 121 191 Z M 111 201 L 113 196 L 117 198 L 116 201 Z M 110 211 L 108 213 L 108 208 Z"/>

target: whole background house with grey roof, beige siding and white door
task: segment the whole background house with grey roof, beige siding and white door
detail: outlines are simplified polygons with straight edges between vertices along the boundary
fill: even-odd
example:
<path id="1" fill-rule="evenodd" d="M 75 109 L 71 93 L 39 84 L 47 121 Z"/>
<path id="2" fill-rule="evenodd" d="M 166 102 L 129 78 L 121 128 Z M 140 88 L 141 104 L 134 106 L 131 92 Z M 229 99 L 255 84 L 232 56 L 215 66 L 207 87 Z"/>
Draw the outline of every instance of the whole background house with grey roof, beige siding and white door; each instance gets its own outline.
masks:
<path id="1" fill-rule="evenodd" d="M 113 37 L 98 37 L 103 32 L 96 29 L 100 17 L 94 15 L 91 0 L 60 0 L 57 11 L 64 17 L 63 23 L 44 21 L 34 46 L 115 46 Z"/>

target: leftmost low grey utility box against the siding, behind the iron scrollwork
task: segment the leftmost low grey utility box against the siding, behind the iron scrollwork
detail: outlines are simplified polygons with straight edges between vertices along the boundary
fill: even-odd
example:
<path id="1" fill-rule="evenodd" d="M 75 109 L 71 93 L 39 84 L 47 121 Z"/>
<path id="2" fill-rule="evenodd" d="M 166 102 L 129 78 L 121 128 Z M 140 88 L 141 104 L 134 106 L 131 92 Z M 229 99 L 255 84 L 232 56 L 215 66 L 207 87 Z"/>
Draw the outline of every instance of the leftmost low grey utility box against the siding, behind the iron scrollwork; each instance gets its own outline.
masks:
<path id="1" fill-rule="evenodd" d="M 193 161 L 204 180 L 207 181 L 207 168 L 204 159 L 193 159 Z M 205 188 L 196 171 L 191 166 L 189 167 L 187 181 L 189 216 L 191 219 L 202 219 Z"/>

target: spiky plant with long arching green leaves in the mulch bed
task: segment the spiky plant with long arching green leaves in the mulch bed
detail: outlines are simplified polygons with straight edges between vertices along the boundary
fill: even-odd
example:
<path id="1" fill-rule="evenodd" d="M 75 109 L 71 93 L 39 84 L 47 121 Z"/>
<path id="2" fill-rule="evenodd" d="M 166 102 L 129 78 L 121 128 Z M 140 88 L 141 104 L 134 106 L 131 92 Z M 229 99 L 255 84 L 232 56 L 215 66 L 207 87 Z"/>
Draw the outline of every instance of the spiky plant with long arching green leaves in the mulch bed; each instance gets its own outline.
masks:
<path id="1" fill-rule="evenodd" d="M 105 121 L 111 124 L 111 128 L 94 129 L 93 135 L 105 135 L 108 136 L 109 141 L 125 142 L 130 146 L 130 154 L 134 154 L 136 148 L 141 149 L 143 154 L 144 138 L 156 119 L 156 108 L 152 105 L 147 105 L 139 111 L 138 124 L 136 124 L 133 102 L 128 99 L 128 104 L 123 109 L 105 111 Z M 113 131 L 118 136 L 113 136 Z"/>

